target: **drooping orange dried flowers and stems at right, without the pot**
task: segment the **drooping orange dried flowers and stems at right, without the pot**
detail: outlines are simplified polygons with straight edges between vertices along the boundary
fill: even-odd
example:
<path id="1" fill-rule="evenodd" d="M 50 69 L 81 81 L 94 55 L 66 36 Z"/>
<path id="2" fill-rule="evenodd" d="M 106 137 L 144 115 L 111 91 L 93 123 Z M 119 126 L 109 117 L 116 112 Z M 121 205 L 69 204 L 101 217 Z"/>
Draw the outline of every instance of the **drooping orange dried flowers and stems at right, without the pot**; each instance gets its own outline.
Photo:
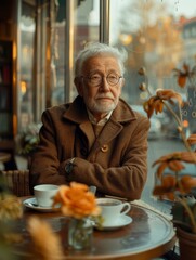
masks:
<path id="1" fill-rule="evenodd" d="M 178 77 L 179 87 L 184 88 L 186 84 L 186 80 L 193 83 L 194 76 L 196 75 L 196 66 L 193 69 L 190 69 L 188 65 L 184 64 L 183 69 L 173 69 L 175 76 Z M 152 117 L 154 113 L 161 113 L 164 107 L 168 109 L 168 112 L 173 116 L 173 119 L 177 122 L 177 129 L 181 134 L 182 141 L 186 151 L 184 152 L 175 152 L 165 156 L 161 156 L 157 159 L 153 167 L 158 165 L 156 169 L 156 185 L 153 190 L 153 195 L 158 196 L 160 199 L 170 199 L 175 203 L 180 203 L 182 205 L 184 211 L 182 218 L 177 218 L 177 222 L 181 220 L 181 224 L 184 226 L 188 226 L 192 233 L 196 234 L 196 200 L 194 198 L 190 198 L 187 196 L 196 195 L 196 178 L 187 174 L 181 176 L 181 170 L 185 169 L 183 162 L 194 164 L 196 165 L 196 151 L 192 151 L 192 145 L 196 143 L 196 134 L 191 134 L 187 139 L 184 133 L 183 120 L 181 109 L 184 105 L 181 94 L 178 92 L 165 89 L 157 90 L 156 94 L 151 94 L 148 90 L 148 80 L 146 76 L 146 72 L 144 68 L 139 70 L 140 75 L 145 76 L 145 88 L 139 87 L 142 91 L 147 91 L 149 94 L 149 99 L 144 102 L 143 107 L 147 113 L 148 118 Z M 174 108 L 178 107 L 178 113 Z M 165 176 L 165 169 L 168 168 L 171 173 Z M 173 210 L 174 212 L 179 212 L 179 210 Z M 187 218 L 184 218 L 186 216 Z M 173 221 L 175 221 L 175 216 L 173 216 Z M 186 221 L 186 222 L 185 222 Z M 175 223 L 177 223 L 175 222 Z"/>

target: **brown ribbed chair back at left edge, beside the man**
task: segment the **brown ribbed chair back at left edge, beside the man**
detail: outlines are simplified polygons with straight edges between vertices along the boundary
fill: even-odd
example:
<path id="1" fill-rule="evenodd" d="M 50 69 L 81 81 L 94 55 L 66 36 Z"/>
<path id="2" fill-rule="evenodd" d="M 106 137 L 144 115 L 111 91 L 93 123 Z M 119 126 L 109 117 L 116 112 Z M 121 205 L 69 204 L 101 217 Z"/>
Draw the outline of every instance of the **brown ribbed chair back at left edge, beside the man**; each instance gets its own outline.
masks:
<path id="1" fill-rule="evenodd" d="M 29 196 L 29 170 L 2 170 L 8 188 L 16 196 Z"/>

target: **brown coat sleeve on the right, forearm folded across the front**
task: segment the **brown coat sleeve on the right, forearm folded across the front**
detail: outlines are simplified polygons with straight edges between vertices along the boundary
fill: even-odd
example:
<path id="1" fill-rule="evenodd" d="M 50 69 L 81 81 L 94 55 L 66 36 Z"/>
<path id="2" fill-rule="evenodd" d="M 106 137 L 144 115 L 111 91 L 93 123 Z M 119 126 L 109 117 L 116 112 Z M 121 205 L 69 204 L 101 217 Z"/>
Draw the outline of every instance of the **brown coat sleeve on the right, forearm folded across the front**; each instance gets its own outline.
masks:
<path id="1" fill-rule="evenodd" d="M 95 185 L 97 192 L 128 200 L 139 199 L 147 179 L 147 134 L 149 120 L 144 117 L 131 127 L 130 134 L 122 132 L 113 154 L 110 167 L 103 167 L 99 160 L 75 159 L 71 180 Z M 125 131 L 129 131 L 129 128 Z M 119 150 L 118 150 L 119 145 Z M 115 158 L 120 164 L 115 165 Z"/>

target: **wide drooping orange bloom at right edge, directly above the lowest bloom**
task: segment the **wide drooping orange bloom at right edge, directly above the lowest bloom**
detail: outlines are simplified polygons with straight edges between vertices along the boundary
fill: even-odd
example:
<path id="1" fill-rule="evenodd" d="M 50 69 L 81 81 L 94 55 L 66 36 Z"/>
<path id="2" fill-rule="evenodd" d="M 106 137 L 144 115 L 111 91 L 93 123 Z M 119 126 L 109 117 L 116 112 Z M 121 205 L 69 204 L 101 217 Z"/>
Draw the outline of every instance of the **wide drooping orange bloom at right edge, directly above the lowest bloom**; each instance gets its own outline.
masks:
<path id="1" fill-rule="evenodd" d="M 172 154 L 168 154 L 165 156 L 161 156 L 159 159 L 157 159 L 153 166 L 160 164 L 157 168 L 157 177 L 160 179 L 164 170 L 168 167 L 170 170 L 178 172 L 184 169 L 184 162 L 194 164 L 196 162 L 196 153 L 194 152 L 175 152 Z"/>

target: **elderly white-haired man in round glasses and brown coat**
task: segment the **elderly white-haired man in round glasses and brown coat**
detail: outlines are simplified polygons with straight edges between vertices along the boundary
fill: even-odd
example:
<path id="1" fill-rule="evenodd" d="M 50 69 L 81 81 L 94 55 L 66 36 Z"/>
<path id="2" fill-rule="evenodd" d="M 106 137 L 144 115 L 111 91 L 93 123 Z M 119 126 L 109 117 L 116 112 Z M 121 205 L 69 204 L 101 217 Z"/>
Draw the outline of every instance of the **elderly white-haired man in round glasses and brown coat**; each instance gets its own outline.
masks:
<path id="1" fill-rule="evenodd" d="M 104 43 L 82 50 L 75 66 L 78 96 L 42 114 L 32 156 L 37 184 L 94 185 L 97 195 L 139 199 L 147 177 L 149 120 L 120 98 L 127 53 Z"/>

